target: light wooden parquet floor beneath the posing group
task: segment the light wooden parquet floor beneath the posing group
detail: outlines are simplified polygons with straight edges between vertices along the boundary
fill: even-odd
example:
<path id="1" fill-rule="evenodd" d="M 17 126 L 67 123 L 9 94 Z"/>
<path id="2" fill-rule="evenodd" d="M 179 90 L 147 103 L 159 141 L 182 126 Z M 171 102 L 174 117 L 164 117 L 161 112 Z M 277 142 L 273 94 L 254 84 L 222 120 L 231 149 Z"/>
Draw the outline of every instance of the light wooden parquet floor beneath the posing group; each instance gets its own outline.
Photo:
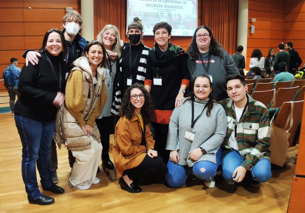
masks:
<path id="1" fill-rule="evenodd" d="M 143 192 L 131 194 L 120 189 L 114 170 L 103 169 L 97 174 L 101 182 L 89 190 L 69 187 L 70 167 L 67 150 L 57 150 L 59 186 L 64 194 L 45 195 L 55 198 L 47 206 L 29 204 L 21 176 L 21 142 L 11 113 L 0 114 L 0 213 L 6 212 L 286 212 L 296 165 L 298 145 L 289 148 L 286 169 L 273 170 L 272 178 L 259 188 L 249 180 L 233 186 L 224 183 L 217 173 L 216 186 L 206 188 L 190 175 L 185 186 L 170 189 L 162 184 L 141 186 Z M 111 136 L 110 158 L 112 159 Z M 38 172 L 37 172 L 38 175 Z M 38 180 L 39 175 L 38 175 Z M 301 211 L 300 211 L 301 212 Z"/>

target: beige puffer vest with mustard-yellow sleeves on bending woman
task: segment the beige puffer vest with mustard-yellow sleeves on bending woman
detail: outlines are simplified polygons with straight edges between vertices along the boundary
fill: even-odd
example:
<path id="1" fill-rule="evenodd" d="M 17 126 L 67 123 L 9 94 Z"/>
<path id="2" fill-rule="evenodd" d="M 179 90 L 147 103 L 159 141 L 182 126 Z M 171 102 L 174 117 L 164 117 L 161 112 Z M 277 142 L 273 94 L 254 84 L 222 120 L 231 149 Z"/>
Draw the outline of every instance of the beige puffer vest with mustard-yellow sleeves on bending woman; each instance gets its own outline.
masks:
<path id="1" fill-rule="evenodd" d="M 64 144 L 68 150 L 91 148 L 88 135 L 81 129 L 84 124 L 93 127 L 92 135 L 101 141 L 95 118 L 101 113 L 107 100 L 104 69 L 97 69 L 97 84 L 94 88 L 92 72 L 87 58 L 73 62 L 66 83 L 66 100 L 56 115 L 54 140 L 59 148 Z"/>

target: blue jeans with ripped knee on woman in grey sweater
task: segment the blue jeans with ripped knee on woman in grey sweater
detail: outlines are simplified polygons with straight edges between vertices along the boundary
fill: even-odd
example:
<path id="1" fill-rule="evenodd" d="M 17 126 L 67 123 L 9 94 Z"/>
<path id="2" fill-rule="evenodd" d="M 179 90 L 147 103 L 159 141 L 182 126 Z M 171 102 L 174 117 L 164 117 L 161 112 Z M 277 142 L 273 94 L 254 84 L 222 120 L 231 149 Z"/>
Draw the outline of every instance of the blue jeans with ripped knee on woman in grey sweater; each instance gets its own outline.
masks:
<path id="1" fill-rule="evenodd" d="M 216 152 L 216 163 L 210 161 L 199 161 L 194 166 L 179 165 L 171 160 L 167 163 L 168 172 L 165 175 L 165 181 L 171 188 L 180 188 L 184 185 L 188 175 L 193 171 L 194 175 L 201 180 L 214 178 L 217 173 L 217 167 L 221 159 L 221 148 Z"/>

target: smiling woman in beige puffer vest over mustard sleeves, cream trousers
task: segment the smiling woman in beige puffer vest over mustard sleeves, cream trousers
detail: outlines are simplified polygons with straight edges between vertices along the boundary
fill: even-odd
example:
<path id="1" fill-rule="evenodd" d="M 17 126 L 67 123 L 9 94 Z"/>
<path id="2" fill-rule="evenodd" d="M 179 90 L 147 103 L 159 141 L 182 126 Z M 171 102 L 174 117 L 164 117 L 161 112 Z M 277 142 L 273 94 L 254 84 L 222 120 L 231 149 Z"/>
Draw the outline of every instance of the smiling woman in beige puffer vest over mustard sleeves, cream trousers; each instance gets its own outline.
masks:
<path id="1" fill-rule="evenodd" d="M 71 65 L 66 84 L 65 107 L 57 113 L 56 142 L 64 144 L 75 158 L 69 185 L 86 190 L 99 183 L 96 172 L 102 155 L 102 144 L 95 118 L 107 100 L 103 67 L 106 50 L 99 41 L 91 41 L 82 57 Z"/>

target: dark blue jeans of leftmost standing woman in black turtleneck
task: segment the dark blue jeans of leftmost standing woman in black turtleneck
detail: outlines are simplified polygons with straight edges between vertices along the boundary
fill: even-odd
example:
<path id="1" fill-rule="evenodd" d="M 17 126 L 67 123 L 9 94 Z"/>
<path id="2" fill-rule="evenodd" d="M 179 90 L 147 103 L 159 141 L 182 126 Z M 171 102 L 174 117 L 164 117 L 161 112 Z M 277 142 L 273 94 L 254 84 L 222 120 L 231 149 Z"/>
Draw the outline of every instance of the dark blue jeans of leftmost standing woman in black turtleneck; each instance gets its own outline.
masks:
<path id="1" fill-rule="evenodd" d="M 27 198 L 36 200 L 41 196 L 38 189 L 36 164 L 44 188 L 54 185 L 50 169 L 51 140 L 55 131 L 55 120 L 38 122 L 15 114 L 15 123 L 22 143 L 21 173 Z"/>

